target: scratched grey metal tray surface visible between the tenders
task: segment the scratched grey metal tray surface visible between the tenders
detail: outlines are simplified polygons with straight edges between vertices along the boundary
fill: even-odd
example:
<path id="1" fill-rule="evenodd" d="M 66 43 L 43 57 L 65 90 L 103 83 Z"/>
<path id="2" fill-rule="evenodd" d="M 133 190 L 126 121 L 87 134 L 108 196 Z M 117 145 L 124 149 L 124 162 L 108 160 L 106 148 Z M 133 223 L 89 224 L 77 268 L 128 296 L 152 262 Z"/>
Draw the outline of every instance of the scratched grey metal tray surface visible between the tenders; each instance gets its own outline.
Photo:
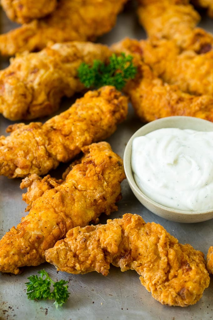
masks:
<path id="1" fill-rule="evenodd" d="M 1 32 L 15 26 L 1 12 Z M 204 17 L 202 27 L 213 31 L 213 20 Z M 111 44 L 125 36 L 144 38 L 145 33 L 138 25 L 134 10 L 128 6 L 118 17 L 115 28 L 100 42 Z M 1 61 L 1 68 L 8 65 L 8 60 Z M 64 100 L 60 111 L 69 107 L 72 100 Z M 44 119 L 43 119 L 44 120 Z M 0 133 L 11 122 L 0 116 Z M 121 124 L 113 136 L 108 139 L 114 151 L 123 156 L 125 145 L 131 135 L 141 127 L 130 106 L 129 116 Z M 61 165 L 52 176 L 60 177 L 67 165 Z M 0 177 L 0 236 L 9 228 L 17 225 L 25 215 L 25 203 L 21 200 L 20 180 L 8 180 Z M 167 221 L 155 216 L 144 208 L 131 192 L 127 181 L 122 183 L 123 199 L 118 204 L 119 211 L 111 214 L 111 218 L 121 217 L 126 212 L 138 213 L 146 222 L 155 221 L 164 226 L 180 243 L 190 243 L 195 249 L 205 254 L 212 245 L 213 220 L 197 224 L 181 224 Z M 106 217 L 101 222 L 106 222 Z M 53 279 L 65 279 L 69 282 L 70 298 L 63 308 L 56 310 L 51 301 L 35 302 L 27 300 L 25 282 L 31 274 L 45 268 Z M 111 267 L 107 277 L 98 273 L 86 275 L 68 275 L 57 273 L 56 269 L 43 264 L 39 267 L 26 268 L 19 276 L 0 274 L 0 319 L 40 319 L 40 320 L 124 320 L 124 319 L 210 319 L 213 316 L 213 279 L 205 290 L 202 299 L 194 306 L 187 308 L 162 306 L 151 297 L 141 285 L 139 276 L 134 271 L 122 273 Z"/>

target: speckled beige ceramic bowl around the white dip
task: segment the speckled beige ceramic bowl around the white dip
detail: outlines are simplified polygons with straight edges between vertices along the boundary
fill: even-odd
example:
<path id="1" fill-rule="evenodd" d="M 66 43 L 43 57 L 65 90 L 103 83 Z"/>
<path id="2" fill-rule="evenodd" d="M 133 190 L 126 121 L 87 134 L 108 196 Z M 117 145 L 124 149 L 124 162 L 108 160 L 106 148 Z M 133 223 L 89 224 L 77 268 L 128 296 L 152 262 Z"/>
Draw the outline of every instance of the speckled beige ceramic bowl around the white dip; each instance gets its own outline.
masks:
<path id="1" fill-rule="evenodd" d="M 173 116 L 152 121 L 136 131 L 127 143 L 124 152 L 124 169 L 126 178 L 134 195 L 148 210 L 156 215 L 176 222 L 201 222 L 213 218 L 213 209 L 208 211 L 181 211 L 165 207 L 149 199 L 136 185 L 131 168 L 132 142 L 135 137 L 143 136 L 161 128 L 193 129 L 197 131 L 213 131 L 213 123 L 194 117 Z"/>

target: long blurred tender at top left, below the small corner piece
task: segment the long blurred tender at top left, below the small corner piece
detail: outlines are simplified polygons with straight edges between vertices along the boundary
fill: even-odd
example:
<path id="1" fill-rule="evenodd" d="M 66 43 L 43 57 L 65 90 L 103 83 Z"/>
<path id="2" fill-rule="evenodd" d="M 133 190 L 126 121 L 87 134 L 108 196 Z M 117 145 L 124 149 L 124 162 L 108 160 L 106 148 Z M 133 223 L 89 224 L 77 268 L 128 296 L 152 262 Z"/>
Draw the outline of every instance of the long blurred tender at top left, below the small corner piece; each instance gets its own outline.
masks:
<path id="1" fill-rule="evenodd" d="M 126 0 L 60 0 L 49 16 L 0 35 L 0 53 L 38 51 L 49 41 L 86 41 L 111 30 Z"/>

